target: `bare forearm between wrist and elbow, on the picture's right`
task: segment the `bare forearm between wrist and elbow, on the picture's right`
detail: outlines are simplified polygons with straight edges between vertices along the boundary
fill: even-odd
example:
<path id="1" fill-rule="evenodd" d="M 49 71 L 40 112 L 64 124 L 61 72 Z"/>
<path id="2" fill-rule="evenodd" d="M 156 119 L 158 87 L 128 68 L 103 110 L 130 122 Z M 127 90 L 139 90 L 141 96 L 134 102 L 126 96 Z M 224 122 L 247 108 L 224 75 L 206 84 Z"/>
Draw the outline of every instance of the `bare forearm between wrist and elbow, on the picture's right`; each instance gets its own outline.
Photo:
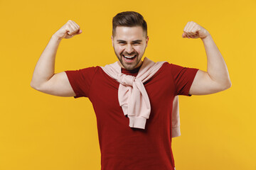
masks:
<path id="1" fill-rule="evenodd" d="M 225 60 L 220 54 L 220 50 L 215 45 L 211 35 L 203 38 L 203 45 L 206 49 L 207 55 L 207 72 L 213 81 L 223 86 L 230 86 L 231 81 L 228 74 L 228 67 Z"/>

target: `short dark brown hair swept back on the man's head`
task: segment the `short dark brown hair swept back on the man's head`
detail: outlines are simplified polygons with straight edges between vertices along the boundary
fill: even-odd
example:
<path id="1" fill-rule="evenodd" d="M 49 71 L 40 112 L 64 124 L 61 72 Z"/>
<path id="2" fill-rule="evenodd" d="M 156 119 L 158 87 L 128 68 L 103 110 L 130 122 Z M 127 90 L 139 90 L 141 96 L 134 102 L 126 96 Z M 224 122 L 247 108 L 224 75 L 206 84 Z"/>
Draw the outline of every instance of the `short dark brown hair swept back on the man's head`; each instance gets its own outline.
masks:
<path id="1" fill-rule="evenodd" d="M 141 26 L 147 37 L 147 26 L 143 16 L 134 11 L 124 11 L 117 13 L 112 20 L 112 35 L 114 37 L 117 26 Z"/>

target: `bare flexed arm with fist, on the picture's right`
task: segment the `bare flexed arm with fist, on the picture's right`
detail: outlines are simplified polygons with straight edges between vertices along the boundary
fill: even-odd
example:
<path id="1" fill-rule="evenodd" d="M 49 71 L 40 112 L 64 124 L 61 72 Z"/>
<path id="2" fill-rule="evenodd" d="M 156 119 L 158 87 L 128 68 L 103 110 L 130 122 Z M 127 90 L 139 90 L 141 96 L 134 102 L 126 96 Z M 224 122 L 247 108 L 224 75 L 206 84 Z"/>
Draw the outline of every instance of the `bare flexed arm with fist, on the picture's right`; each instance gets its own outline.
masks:
<path id="1" fill-rule="evenodd" d="M 207 55 L 207 72 L 198 69 L 189 94 L 214 94 L 230 88 L 231 81 L 228 67 L 208 30 L 190 21 L 186 24 L 183 32 L 183 38 L 201 38 Z"/>

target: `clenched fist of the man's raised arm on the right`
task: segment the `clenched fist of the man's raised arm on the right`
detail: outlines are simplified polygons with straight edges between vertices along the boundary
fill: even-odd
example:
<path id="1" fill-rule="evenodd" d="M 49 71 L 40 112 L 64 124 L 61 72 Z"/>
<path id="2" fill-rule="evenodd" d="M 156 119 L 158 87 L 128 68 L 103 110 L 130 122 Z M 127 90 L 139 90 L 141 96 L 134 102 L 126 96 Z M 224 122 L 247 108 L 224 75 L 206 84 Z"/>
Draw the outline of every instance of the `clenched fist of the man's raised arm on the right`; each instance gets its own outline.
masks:
<path id="1" fill-rule="evenodd" d="M 210 33 L 208 30 L 199 26 L 197 23 L 190 21 L 186 24 L 185 28 L 183 29 L 182 38 L 206 38 Z"/>

